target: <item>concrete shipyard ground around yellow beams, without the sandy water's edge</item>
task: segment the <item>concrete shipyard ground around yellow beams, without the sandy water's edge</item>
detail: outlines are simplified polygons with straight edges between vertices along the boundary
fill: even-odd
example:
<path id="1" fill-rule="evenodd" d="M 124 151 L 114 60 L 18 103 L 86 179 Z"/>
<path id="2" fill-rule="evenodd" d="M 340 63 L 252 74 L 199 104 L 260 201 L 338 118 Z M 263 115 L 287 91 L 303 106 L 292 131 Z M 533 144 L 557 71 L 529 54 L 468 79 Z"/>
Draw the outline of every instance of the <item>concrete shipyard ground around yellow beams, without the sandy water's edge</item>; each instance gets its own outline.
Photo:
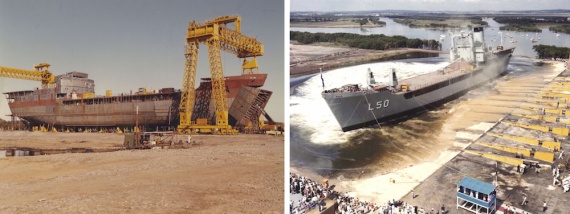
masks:
<path id="1" fill-rule="evenodd" d="M 555 62 L 556 63 L 556 62 Z M 495 89 L 498 91 L 497 95 L 491 95 L 487 98 L 494 100 L 495 103 L 489 104 L 488 106 L 494 106 L 494 112 L 504 112 L 506 114 L 498 115 L 501 117 L 500 121 L 510 121 L 526 124 L 536 124 L 536 125 L 550 125 L 556 126 L 553 123 L 546 123 L 531 119 L 525 119 L 520 117 L 515 117 L 508 115 L 508 113 L 522 113 L 522 114 L 536 114 L 536 112 L 529 112 L 517 108 L 517 106 L 532 106 L 528 103 L 521 102 L 521 100 L 528 99 L 533 94 L 536 94 L 541 88 L 543 88 L 552 79 L 552 74 L 560 73 L 561 68 L 564 66 L 562 63 L 557 63 L 558 69 L 555 69 L 554 73 L 535 73 L 520 79 L 514 79 L 510 81 L 497 84 Z M 562 69 L 563 70 L 563 69 Z M 541 75 L 543 74 L 543 75 Z M 566 70 L 560 73 L 560 77 L 566 77 L 570 75 L 570 71 Z M 526 87 L 526 89 L 525 89 Z M 537 99 L 540 100 L 540 99 Z M 475 101 L 472 101 L 472 103 Z M 477 102 L 475 102 L 477 103 Z M 475 104 L 474 106 L 482 105 Z M 479 112 L 484 112 L 486 110 L 478 110 Z M 487 110 L 488 111 L 488 110 Z M 491 121 L 487 121 L 491 122 Z M 501 152 L 492 148 L 484 147 L 478 142 L 489 142 L 496 145 L 511 146 L 511 147 L 522 147 L 522 148 L 535 148 L 538 151 L 547 151 L 542 148 L 537 148 L 535 146 L 530 146 L 522 143 L 517 143 L 515 141 L 509 141 L 501 138 L 494 138 L 492 136 L 486 135 L 485 133 L 497 133 L 506 135 L 517 135 L 524 136 L 528 138 L 543 139 L 543 140 L 553 140 L 557 138 L 561 142 L 561 148 L 565 151 L 570 150 L 568 145 L 568 140 L 562 136 L 556 136 L 550 133 L 544 133 L 535 130 L 523 129 L 518 127 L 508 126 L 504 123 L 492 123 L 493 126 L 489 126 L 490 129 L 479 132 L 471 132 L 474 137 L 473 141 L 468 139 L 463 140 L 463 143 L 467 144 L 466 148 L 468 150 L 474 150 L 483 153 L 494 153 L 503 156 L 513 157 L 512 154 Z M 456 139 L 458 140 L 458 139 Z M 474 143 L 471 143 L 474 142 Z M 458 142 L 459 143 L 459 142 Z M 465 144 L 464 144 L 465 145 Z M 558 159 L 558 153 L 555 153 L 556 159 Z M 564 160 L 568 156 L 566 155 Z M 532 158 L 527 158 L 534 160 Z M 556 164 L 562 160 L 556 160 Z M 416 204 L 420 207 L 426 209 L 435 208 L 436 210 L 445 205 L 447 208 L 451 208 L 451 213 L 470 213 L 463 209 L 455 209 L 456 206 L 456 194 L 457 183 L 464 177 L 473 177 L 488 183 L 493 183 L 495 180 L 495 169 L 498 171 L 497 177 L 497 192 L 500 204 L 512 205 L 519 212 L 525 210 L 531 213 L 542 213 L 543 203 L 546 202 L 547 210 L 545 213 L 568 213 L 570 204 L 569 193 L 564 193 L 562 188 L 559 186 L 553 186 L 553 176 L 551 170 L 551 164 L 548 162 L 540 161 L 540 164 L 544 166 L 541 168 L 539 173 L 535 172 L 535 168 L 528 169 L 524 174 L 517 172 L 517 167 L 505 163 L 498 163 L 497 161 L 487 159 L 480 156 L 475 156 L 467 154 L 465 152 L 459 153 L 449 162 L 444 163 L 435 173 L 429 176 L 424 181 L 420 182 L 417 187 L 414 188 L 414 194 L 416 197 L 412 199 L 411 193 L 408 193 L 402 200 L 407 201 L 412 204 Z M 562 176 L 568 175 L 568 170 L 561 169 L 560 174 Z M 523 197 L 526 196 L 528 204 L 522 206 Z"/>

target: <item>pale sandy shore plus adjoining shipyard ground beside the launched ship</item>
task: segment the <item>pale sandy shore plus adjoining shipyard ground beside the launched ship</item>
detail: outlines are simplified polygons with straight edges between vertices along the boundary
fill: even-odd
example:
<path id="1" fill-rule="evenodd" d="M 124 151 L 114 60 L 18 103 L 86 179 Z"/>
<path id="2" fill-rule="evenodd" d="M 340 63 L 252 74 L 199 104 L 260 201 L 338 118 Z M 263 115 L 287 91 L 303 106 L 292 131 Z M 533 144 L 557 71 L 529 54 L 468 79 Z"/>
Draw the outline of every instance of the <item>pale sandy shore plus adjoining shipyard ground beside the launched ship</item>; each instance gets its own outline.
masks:
<path id="1" fill-rule="evenodd" d="M 456 188 L 464 176 L 474 177 L 486 182 L 492 182 L 495 170 L 495 162 L 483 157 L 466 154 L 464 149 L 489 152 L 492 149 L 474 145 L 473 142 L 490 142 L 500 145 L 532 148 L 532 146 L 513 143 L 512 141 L 494 139 L 486 136 L 486 132 L 520 135 L 526 137 L 552 140 L 552 134 L 544 134 L 538 131 L 529 131 L 523 128 L 508 127 L 498 123 L 501 120 L 519 121 L 521 123 L 533 123 L 529 119 L 509 116 L 511 113 L 536 114 L 518 107 L 522 105 L 538 107 L 526 103 L 533 93 L 538 92 L 549 81 L 564 71 L 564 64 L 552 62 L 552 66 L 543 67 L 538 71 L 517 76 L 506 77 L 492 87 L 483 86 L 481 89 L 487 92 L 470 93 L 467 98 L 454 101 L 442 110 L 447 116 L 441 130 L 434 131 L 428 139 L 433 142 L 421 140 L 410 141 L 408 144 L 397 144 L 400 149 L 391 149 L 389 157 L 381 165 L 382 169 L 370 171 L 363 169 L 362 176 L 338 176 L 323 177 L 311 172 L 310 169 L 293 167 L 291 172 L 320 180 L 328 178 L 331 184 L 336 185 L 336 190 L 347 192 L 351 196 L 361 200 L 385 204 L 388 200 L 403 200 L 411 205 L 430 210 L 436 210 L 442 204 L 450 210 L 450 213 L 470 213 L 466 210 L 455 209 Z M 568 72 L 568 71 L 566 71 Z M 562 75 L 565 75 L 562 73 Z M 476 91 L 476 90 L 475 90 Z M 536 99 L 541 100 L 541 99 Z M 432 135 L 434 138 L 432 138 Z M 418 145 L 422 143 L 422 145 Z M 425 145 L 424 145 L 425 143 Z M 417 149 L 419 147 L 420 149 Z M 565 151 L 570 150 L 568 141 L 564 141 Z M 541 149 L 538 149 L 542 151 Z M 505 152 L 497 152 L 500 155 L 512 156 Z M 567 153 L 567 152 L 566 152 Z M 568 157 L 568 155 L 566 155 Z M 541 162 L 546 164 L 545 162 Z M 552 186 L 552 172 L 547 168 L 537 175 L 534 169 L 521 175 L 516 173 L 516 166 L 499 163 L 498 199 L 502 203 L 514 205 L 522 202 L 523 194 L 526 194 L 529 204 L 516 206 L 531 213 L 542 212 L 542 203 L 546 201 L 548 210 L 546 213 L 566 213 L 567 204 L 570 203 L 568 193 L 563 193 L 560 187 Z M 568 172 L 561 171 L 562 175 Z M 394 182 L 392 182 L 394 181 Z M 411 198 L 410 192 L 414 190 L 417 195 Z"/>

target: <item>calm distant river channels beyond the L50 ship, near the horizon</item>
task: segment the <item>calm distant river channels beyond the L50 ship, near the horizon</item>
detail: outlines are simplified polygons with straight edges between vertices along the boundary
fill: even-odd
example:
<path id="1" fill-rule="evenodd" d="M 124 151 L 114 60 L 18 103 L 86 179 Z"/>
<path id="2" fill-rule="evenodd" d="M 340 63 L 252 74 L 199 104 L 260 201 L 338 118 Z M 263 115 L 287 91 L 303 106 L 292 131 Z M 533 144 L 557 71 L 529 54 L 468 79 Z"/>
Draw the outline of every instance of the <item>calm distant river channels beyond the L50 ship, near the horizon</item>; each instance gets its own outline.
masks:
<path id="1" fill-rule="evenodd" d="M 451 41 L 449 39 L 449 33 L 459 33 L 459 30 L 435 30 L 435 29 L 425 29 L 425 28 L 410 28 L 407 25 L 402 25 L 394 22 L 389 18 L 380 18 L 381 21 L 386 22 L 385 27 L 379 28 L 366 28 L 361 30 L 360 28 L 291 28 L 291 31 L 306 31 L 306 32 L 322 32 L 322 33 L 356 33 L 362 35 L 370 34 L 384 34 L 387 36 L 402 35 L 408 38 L 419 38 L 419 39 L 434 39 L 439 40 L 440 36 L 445 35 L 445 39 L 441 42 L 443 44 L 442 50 L 449 50 L 451 46 Z M 493 19 L 484 19 L 489 23 L 489 27 L 485 28 L 485 42 L 487 45 L 496 47 L 501 44 L 500 36 L 498 34 L 499 27 L 501 24 L 495 22 Z M 464 29 L 467 31 L 467 29 Z M 512 39 L 507 36 L 512 36 Z M 526 36 L 528 34 L 528 37 Z M 540 40 L 538 37 L 540 36 Z M 535 32 L 516 32 L 516 31 L 503 31 L 503 45 L 505 47 L 516 47 L 514 55 L 516 56 L 528 56 L 536 57 L 536 53 L 532 49 L 533 45 L 543 44 L 543 45 L 556 45 L 563 47 L 570 47 L 570 35 L 560 33 L 560 36 L 556 36 L 556 33 L 551 32 L 548 29 L 543 29 L 541 33 L 536 34 Z M 537 42 L 532 43 L 531 38 L 534 38 Z M 511 40 L 517 41 L 516 43 L 511 43 Z"/>

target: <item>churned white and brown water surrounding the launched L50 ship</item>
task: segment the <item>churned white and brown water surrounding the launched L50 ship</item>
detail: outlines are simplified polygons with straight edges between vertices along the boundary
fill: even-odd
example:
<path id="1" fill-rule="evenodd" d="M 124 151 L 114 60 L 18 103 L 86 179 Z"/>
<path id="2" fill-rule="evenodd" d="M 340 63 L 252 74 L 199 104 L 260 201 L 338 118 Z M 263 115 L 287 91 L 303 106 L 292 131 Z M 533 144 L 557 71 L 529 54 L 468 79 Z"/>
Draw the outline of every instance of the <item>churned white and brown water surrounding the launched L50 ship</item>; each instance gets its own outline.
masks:
<path id="1" fill-rule="evenodd" d="M 436 58 L 408 59 L 371 63 L 325 72 L 326 87 L 343 82 L 365 81 L 368 67 L 376 76 L 388 72 L 390 67 L 399 67 L 402 76 L 418 75 L 447 65 L 446 55 Z M 307 168 L 326 175 L 342 174 L 356 177 L 362 171 L 381 172 L 385 168 L 419 163 L 430 154 L 433 146 L 444 145 L 437 137 L 448 112 L 457 102 L 483 96 L 493 91 L 498 81 L 526 75 L 537 67 L 526 58 L 513 58 L 508 74 L 461 98 L 433 111 L 395 125 L 364 128 L 342 132 L 328 106 L 321 98 L 320 75 L 313 75 L 302 83 L 291 86 L 291 165 Z M 362 78 L 359 78 L 362 77 Z"/>

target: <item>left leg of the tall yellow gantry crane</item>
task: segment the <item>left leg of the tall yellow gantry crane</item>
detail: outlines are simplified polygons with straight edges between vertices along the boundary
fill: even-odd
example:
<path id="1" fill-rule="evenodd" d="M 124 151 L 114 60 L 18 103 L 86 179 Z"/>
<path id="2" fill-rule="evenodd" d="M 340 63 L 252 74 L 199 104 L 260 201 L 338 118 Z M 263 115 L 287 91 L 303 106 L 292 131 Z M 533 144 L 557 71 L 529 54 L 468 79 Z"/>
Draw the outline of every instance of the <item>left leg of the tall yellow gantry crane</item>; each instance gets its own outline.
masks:
<path id="1" fill-rule="evenodd" d="M 192 110 L 194 108 L 194 85 L 196 79 L 196 66 L 198 65 L 198 43 L 187 42 L 186 63 L 184 64 L 184 79 L 182 85 L 182 94 L 180 96 L 180 125 L 178 125 L 178 133 L 189 134 L 192 132 Z"/>

